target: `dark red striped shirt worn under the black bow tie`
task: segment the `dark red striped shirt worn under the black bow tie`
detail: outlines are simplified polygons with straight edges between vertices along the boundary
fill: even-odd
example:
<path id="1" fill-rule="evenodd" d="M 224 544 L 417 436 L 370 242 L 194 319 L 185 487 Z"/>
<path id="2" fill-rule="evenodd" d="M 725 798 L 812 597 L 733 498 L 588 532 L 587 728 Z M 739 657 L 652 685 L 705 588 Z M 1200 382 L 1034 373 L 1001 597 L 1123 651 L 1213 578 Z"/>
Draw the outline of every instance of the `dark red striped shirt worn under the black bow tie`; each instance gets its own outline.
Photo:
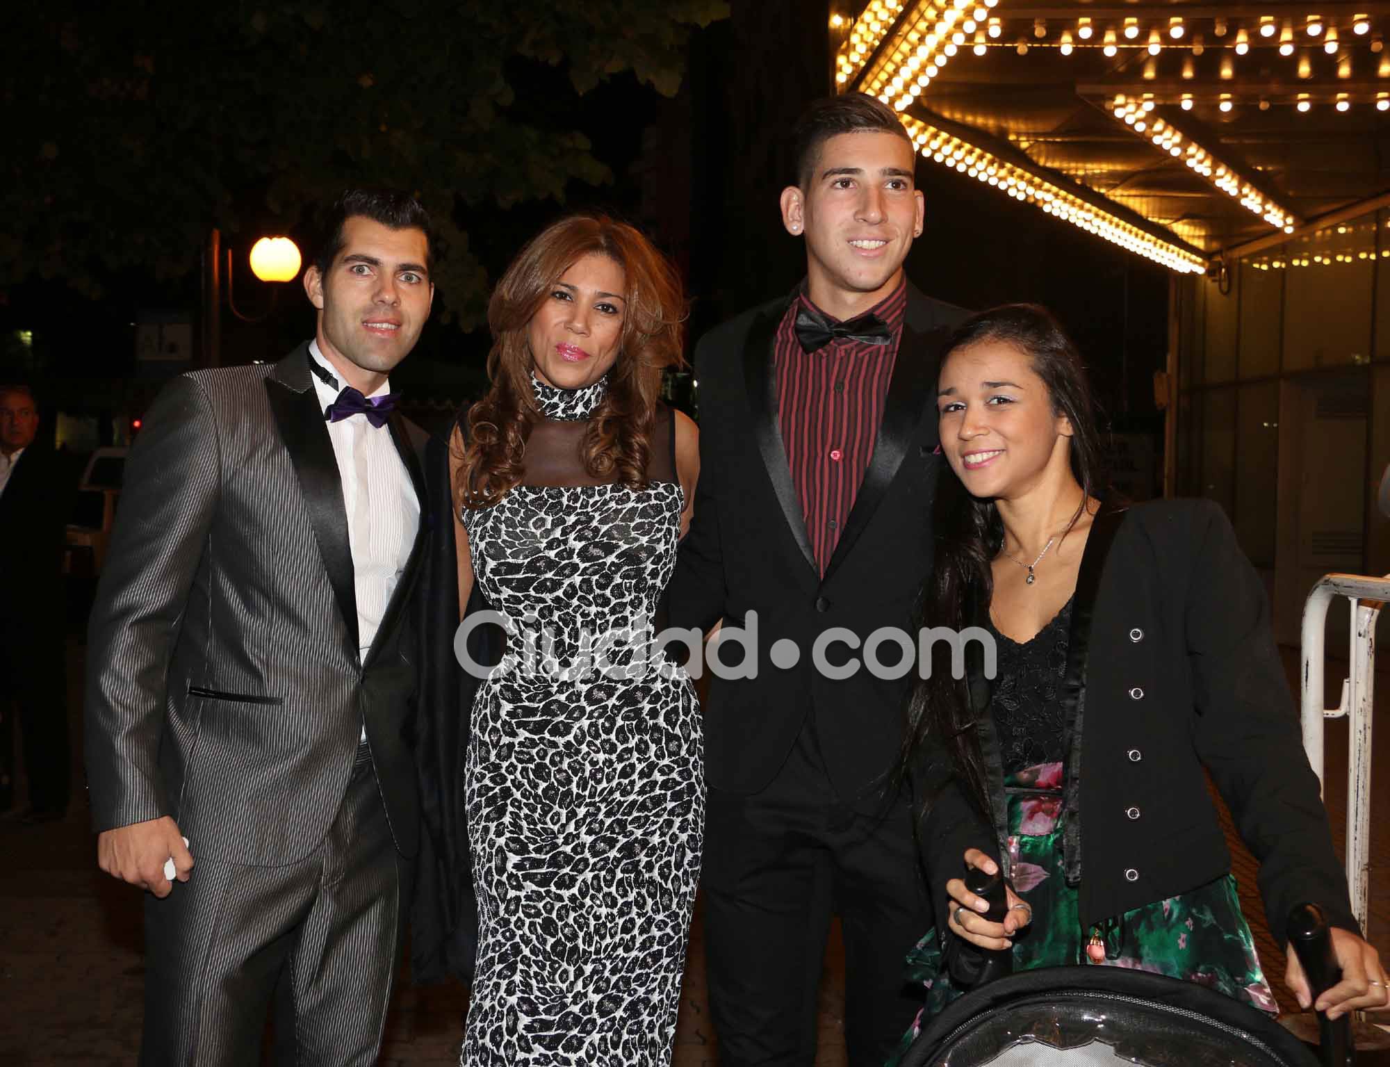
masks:
<path id="1" fill-rule="evenodd" d="M 795 331 L 802 303 L 830 322 L 838 320 L 802 292 L 783 315 L 773 343 L 777 421 L 810 549 L 824 577 L 873 457 L 908 310 L 908 282 L 870 308 L 892 332 L 887 345 L 841 339 L 802 351 Z"/>

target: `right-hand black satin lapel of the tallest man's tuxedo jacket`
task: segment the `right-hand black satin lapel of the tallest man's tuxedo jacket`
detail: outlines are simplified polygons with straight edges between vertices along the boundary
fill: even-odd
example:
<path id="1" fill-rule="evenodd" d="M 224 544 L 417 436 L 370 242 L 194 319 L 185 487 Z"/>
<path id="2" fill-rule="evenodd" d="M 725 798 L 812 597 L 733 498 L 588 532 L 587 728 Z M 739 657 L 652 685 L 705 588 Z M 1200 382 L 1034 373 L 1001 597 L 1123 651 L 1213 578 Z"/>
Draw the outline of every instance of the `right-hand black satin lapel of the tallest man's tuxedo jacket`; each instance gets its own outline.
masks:
<path id="1" fill-rule="evenodd" d="M 916 439 L 917 427 L 937 382 L 937 363 L 945 339 L 945 329 L 919 333 L 906 324 L 902 328 L 898 356 L 892 364 L 892 381 L 888 382 L 878 435 L 873 443 L 873 456 L 869 458 L 869 470 L 865 471 L 865 479 L 859 485 L 855 506 L 849 508 L 845 528 L 826 568 L 827 579 L 865 532 L 869 520 L 887 496 L 888 486 L 902 465 L 902 457 Z"/>

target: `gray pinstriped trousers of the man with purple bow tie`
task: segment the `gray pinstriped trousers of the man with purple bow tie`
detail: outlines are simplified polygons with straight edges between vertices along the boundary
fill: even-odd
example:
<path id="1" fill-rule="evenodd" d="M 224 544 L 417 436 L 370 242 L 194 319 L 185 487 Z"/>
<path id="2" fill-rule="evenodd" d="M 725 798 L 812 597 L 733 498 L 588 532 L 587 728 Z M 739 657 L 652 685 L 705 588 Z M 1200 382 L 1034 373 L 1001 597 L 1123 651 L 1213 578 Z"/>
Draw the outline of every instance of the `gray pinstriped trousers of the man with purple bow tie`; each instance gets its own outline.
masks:
<path id="1" fill-rule="evenodd" d="M 413 861 L 396 852 L 367 746 L 322 843 L 286 867 L 199 859 L 145 902 L 142 1067 L 377 1061 L 400 959 Z"/>

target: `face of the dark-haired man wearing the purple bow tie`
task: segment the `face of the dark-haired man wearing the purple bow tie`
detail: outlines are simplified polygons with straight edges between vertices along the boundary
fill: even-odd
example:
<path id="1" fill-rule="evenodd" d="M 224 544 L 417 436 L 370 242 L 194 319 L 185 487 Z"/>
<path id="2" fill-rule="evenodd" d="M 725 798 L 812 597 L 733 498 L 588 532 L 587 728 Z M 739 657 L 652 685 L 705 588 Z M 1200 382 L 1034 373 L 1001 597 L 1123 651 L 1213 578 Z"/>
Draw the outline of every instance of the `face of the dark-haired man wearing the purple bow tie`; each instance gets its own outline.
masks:
<path id="1" fill-rule="evenodd" d="M 410 354 L 430 317 L 430 240 L 423 229 L 364 215 L 343 222 L 342 239 L 327 274 L 304 271 L 304 292 L 318 308 L 324 357 L 359 389 L 374 389 Z"/>

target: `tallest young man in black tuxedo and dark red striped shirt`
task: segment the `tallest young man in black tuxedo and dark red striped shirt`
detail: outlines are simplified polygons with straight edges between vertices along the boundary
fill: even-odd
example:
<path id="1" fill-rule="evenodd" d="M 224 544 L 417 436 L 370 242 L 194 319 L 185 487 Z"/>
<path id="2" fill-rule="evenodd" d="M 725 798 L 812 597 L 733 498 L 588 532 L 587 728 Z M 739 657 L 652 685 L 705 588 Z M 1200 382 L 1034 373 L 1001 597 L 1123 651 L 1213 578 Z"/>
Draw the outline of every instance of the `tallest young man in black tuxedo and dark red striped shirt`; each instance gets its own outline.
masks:
<path id="1" fill-rule="evenodd" d="M 931 925 L 891 784 L 902 668 L 844 675 L 898 656 L 866 657 L 863 640 L 909 628 L 931 567 L 937 361 L 966 313 L 903 275 L 924 203 L 897 115 L 847 94 L 795 138 L 781 215 L 806 240 L 806 279 L 696 347 L 701 481 L 670 596 L 677 625 L 751 631 L 756 615 L 753 677 L 716 675 L 705 709 L 706 966 L 726 1067 L 815 1061 L 831 913 L 849 1061 L 881 1063 L 920 1006 L 903 956 Z"/>

